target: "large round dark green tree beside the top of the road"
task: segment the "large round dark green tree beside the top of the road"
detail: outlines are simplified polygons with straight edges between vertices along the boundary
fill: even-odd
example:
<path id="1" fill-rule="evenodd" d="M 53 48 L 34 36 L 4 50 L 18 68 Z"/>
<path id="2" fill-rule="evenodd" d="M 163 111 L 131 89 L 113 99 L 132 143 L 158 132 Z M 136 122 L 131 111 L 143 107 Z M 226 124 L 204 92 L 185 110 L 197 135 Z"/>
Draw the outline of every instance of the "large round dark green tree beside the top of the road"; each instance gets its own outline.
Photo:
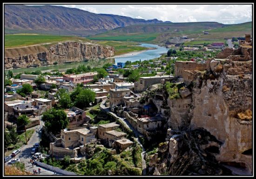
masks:
<path id="1" fill-rule="evenodd" d="M 69 121 L 67 113 L 64 110 L 50 109 L 43 113 L 42 121 L 45 122 L 45 127 L 51 133 L 60 134 L 61 129 L 67 127 Z"/>

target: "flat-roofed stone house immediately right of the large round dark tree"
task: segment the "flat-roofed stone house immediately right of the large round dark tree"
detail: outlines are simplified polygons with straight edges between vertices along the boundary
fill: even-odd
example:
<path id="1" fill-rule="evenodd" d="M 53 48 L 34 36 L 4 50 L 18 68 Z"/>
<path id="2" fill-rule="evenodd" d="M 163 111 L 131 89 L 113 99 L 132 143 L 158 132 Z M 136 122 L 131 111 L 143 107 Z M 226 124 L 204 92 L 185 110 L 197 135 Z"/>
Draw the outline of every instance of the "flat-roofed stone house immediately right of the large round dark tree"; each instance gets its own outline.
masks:
<path id="1" fill-rule="evenodd" d="M 65 112 L 67 113 L 67 118 L 69 120 L 67 128 L 76 128 L 86 122 L 86 112 L 82 109 L 73 107 L 71 109 L 66 109 Z"/>

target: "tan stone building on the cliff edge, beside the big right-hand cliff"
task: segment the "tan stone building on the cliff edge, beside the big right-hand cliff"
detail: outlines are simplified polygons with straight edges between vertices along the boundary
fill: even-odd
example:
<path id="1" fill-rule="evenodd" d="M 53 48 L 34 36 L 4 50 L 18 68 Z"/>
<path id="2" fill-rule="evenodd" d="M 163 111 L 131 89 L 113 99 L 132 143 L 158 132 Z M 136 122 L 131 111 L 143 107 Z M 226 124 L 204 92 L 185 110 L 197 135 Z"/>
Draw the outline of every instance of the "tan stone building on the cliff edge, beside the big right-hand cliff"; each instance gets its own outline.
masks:
<path id="1" fill-rule="evenodd" d="M 184 70 L 207 70 L 206 63 L 197 63 L 194 61 L 176 61 L 175 62 L 175 77 L 184 77 L 184 73 L 188 75 Z"/>

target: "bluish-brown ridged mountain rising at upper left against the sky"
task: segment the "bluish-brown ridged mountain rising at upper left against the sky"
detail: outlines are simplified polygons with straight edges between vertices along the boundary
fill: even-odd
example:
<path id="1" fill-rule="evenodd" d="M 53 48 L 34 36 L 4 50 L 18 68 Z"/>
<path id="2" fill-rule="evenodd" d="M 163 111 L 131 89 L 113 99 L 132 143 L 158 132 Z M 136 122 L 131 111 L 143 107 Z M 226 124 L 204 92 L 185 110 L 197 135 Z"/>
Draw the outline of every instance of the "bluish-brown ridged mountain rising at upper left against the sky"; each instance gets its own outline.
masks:
<path id="1" fill-rule="evenodd" d="M 113 14 L 90 13 L 63 6 L 5 5 L 6 32 L 88 35 L 117 27 L 163 23 L 161 20 L 133 19 Z"/>

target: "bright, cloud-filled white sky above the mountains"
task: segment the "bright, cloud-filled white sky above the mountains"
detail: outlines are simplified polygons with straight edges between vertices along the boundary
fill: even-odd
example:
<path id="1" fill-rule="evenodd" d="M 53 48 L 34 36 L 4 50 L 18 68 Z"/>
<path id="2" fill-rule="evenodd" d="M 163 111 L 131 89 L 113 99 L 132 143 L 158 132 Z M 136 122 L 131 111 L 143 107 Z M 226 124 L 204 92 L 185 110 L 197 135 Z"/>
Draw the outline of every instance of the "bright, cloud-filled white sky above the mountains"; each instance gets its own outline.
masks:
<path id="1" fill-rule="evenodd" d="M 137 19 L 171 22 L 211 21 L 239 24 L 252 21 L 252 5 L 54 5 L 79 8 L 91 13 L 107 13 Z"/>

